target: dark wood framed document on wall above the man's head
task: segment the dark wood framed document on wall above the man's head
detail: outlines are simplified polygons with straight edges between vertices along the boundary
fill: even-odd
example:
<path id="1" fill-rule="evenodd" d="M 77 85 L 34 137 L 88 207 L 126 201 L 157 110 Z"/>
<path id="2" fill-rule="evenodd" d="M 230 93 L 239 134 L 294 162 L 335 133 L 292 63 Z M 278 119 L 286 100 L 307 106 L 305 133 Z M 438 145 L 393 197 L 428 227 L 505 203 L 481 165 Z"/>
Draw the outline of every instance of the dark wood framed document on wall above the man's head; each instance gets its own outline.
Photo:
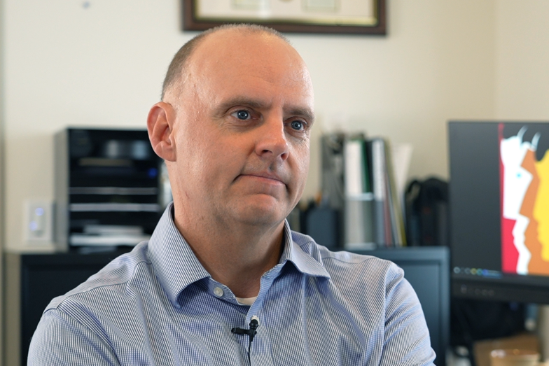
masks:
<path id="1" fill-rule="evenodd" d="M 182 0 L 183 30 L 255 23 L 288 33 L 386 34 L 386 0 Z"/>

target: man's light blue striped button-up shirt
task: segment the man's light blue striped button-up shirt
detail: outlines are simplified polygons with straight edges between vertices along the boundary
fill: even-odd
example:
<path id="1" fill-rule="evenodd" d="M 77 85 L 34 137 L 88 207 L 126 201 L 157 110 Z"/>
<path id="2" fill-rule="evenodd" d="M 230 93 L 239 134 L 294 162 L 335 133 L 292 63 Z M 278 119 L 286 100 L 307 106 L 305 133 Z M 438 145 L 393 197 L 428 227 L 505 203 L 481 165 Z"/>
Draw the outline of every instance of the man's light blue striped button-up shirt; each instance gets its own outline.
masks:
<path id="1" fill-rule="evenodd" d="M 331 252 L 285 225 L 278 265 L 251 306 L 211 279 L 174 225 L 56 297 L 28 365 L 432 365 L 422 308 L 403 272 L 367 255 Z"/>

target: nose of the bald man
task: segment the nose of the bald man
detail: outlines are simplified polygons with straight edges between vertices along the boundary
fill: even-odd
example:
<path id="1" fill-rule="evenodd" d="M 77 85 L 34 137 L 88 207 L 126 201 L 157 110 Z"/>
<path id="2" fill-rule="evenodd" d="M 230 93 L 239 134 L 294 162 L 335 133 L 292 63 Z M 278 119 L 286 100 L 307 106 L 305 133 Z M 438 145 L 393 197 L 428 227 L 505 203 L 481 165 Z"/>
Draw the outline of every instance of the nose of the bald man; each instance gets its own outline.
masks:
<path id="1" fill-rule="evenodd" d="M 289 145 L 282 118 L 266 118 L 257 132 L 257 155 L 282 160 L 288 158 Z"/>

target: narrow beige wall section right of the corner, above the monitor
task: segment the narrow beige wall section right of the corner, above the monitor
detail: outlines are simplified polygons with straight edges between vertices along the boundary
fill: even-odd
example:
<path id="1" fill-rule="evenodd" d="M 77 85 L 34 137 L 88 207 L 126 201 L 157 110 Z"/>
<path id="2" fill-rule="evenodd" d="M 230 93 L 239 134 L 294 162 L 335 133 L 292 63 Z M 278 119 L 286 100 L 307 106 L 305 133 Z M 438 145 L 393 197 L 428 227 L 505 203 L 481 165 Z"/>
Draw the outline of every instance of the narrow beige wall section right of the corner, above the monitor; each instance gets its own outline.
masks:
<path id="1" fill-rule="evenodd" d="M 549 120 L 549 1 L 497 4 L 496 118 Z"/>

